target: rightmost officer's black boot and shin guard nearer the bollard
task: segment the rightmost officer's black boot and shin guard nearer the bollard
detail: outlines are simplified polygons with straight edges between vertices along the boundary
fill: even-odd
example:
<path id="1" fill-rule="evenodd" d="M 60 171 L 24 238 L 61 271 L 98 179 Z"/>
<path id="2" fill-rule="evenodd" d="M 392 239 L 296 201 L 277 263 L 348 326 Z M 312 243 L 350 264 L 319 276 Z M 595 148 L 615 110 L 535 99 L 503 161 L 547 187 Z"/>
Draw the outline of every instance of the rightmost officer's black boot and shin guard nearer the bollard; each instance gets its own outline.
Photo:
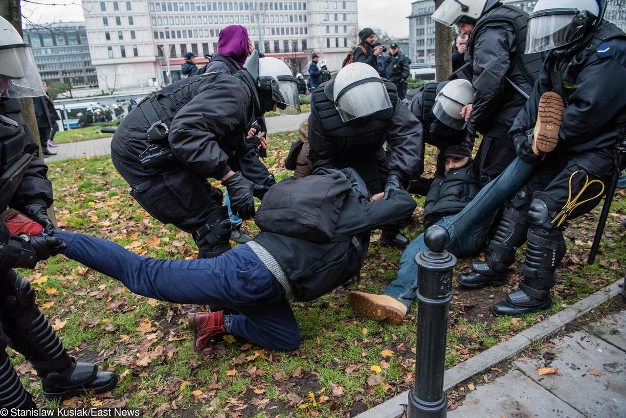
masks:
<path id="1" fill-rule="evenodd" d="M 507 207 L 489 243 L 485 261 L 472 263 L 472 271 L 459 274 L 457 283 L 466 288 L 506 285 L 508 267 L 515 261 L 515 249 L 526 241 L 527 230 L 526 216 L 513 207 Z"/>

